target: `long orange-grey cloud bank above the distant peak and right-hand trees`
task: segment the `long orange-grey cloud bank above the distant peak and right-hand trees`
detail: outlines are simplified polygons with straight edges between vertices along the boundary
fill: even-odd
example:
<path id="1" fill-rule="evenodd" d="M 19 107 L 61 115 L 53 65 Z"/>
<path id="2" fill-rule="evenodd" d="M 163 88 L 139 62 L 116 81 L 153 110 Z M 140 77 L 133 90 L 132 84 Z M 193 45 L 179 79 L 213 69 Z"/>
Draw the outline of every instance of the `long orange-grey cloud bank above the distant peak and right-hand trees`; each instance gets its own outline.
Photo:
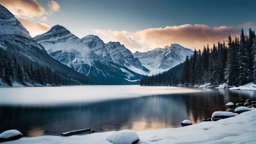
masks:
<path id="1" fill-rule="evenodd" d="M 207 43 L 212 46 L 218 41 L 223 42 L 231 34 L 232 37 L 239 36 L 241 28 L 256 27 L 253 22 L 247 22 L 236 27 L 208 27 L 202 24 L 185 24 L 179 26 L 167 26 L 165 28 L 148 28 L 145 30 L 129 31 L 110 31 L 94 30 L 99 36 L 106 36 L 108 39 L 124 44 L 132 52 L 147 51 L 153 48 L 164 48 L 171 43 L 190 49 L 202 49 Z"/>

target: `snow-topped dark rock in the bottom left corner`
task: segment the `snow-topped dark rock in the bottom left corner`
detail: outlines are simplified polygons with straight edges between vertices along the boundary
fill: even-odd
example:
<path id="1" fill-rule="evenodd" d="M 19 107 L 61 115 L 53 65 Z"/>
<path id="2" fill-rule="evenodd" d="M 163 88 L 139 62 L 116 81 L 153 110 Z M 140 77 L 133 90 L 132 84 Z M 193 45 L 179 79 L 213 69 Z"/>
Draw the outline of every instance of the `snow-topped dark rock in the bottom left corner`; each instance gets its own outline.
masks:
<path id="1" fill-rule="evenodd" d="M 14 141 L 22 137 L 21 132 L 11 129 L 0 134 L 0 143 L 4 141 Z"/>

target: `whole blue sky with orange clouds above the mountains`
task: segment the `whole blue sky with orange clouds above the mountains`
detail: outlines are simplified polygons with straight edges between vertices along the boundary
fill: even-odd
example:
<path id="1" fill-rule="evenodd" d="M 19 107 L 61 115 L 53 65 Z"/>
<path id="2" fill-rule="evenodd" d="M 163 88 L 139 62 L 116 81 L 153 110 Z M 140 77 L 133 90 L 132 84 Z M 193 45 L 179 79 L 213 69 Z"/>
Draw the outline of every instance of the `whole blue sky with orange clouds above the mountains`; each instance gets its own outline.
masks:
<path id="1" fill-rule="evenodd" d="M 255 0 L 0 0 L 32 37 L 62 25 L 79 38 L 94 34 L 132 52 L 178 43 L 202 49 L 256 30 Z"/>

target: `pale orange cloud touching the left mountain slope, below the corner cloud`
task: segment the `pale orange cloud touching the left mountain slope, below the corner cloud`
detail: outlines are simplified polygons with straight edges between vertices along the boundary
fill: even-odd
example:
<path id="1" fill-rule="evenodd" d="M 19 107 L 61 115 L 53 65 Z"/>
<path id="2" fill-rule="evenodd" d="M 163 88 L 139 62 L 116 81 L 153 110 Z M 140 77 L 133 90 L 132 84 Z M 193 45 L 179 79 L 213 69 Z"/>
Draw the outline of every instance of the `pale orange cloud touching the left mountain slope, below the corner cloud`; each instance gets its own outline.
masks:
<path id="1" fill-rule="evenodd" d="M 49 25 L 42 22 L 36 22 L 36 21 L 24 19 L 24 18 L 17 18 L 17 19 L 29 31 L 29 34 L 31 37 L 45 33 L 51 28 Z"/>

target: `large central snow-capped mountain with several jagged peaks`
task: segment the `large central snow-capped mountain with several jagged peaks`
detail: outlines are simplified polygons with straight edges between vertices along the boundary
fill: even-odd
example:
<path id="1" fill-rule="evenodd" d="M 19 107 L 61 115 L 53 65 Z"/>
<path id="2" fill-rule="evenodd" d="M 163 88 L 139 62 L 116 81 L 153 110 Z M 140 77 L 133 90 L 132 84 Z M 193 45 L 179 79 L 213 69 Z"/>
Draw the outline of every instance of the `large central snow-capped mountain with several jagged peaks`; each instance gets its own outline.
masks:
<path id="1" fill-rule="evenodd" d="M 79 39 L 61 25 L 55 25 L 34 40 L 44 46 L 54 59 L 79 73 L 103 81 L 102 84 L 135 84 L 141 74 L 132 70 L 143 73 L 147 70 L 119 42 L 104 44 L 94 35 Z"/>

